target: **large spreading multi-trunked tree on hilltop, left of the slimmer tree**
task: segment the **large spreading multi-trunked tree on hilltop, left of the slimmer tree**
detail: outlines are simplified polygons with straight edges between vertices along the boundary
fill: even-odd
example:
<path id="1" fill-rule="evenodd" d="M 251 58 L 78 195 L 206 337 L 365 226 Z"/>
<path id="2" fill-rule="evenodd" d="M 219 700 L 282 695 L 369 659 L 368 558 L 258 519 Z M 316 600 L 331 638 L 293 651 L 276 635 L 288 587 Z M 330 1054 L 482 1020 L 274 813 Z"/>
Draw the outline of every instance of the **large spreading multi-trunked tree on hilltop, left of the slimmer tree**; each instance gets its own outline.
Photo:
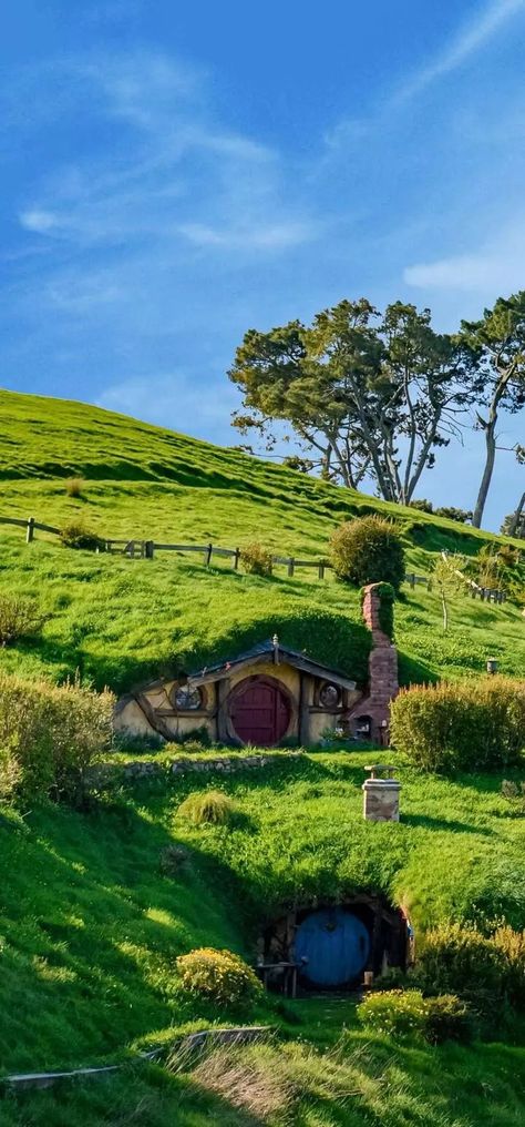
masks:
<path id="1" fill-rule="evenodd" d="M 436 334 L 429 310 L 366 299 L 323 310 L 307 327 L 251 329 L 230 379 L 243 391 L 234 424 L 273 443 L 290 424 L 323 473 L 357 488 L 371 477 L 386 500 L 414 496 L 435 451 L 458 434 L 471 401 L 463 341 Z"/>

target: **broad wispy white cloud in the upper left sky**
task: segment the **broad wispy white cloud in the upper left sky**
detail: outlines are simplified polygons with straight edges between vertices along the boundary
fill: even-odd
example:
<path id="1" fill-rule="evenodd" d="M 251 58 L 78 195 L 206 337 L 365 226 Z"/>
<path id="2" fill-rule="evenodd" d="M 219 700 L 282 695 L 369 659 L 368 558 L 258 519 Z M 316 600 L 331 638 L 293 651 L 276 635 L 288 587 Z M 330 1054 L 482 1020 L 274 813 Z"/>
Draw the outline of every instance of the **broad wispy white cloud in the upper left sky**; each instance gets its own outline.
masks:
<path id="1" fill-rule="evenodd" d="M 281 158 L 214 118 L 206 79 L 151 54 L 70 61 L 70 106 L 129 130 L 123 151 L 57 167 L 20 225 L 79 247 L 185 241 L 237 252 L 284 251 L 316 234 Z"/>

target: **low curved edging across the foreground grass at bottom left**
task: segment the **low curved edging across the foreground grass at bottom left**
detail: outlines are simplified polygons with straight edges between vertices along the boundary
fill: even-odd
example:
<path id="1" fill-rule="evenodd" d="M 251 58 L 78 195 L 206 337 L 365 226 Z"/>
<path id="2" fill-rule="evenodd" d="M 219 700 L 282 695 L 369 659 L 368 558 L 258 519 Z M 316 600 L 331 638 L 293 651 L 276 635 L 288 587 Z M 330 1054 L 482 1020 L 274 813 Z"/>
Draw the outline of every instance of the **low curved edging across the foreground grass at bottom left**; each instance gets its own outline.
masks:
<path id="1" fill-rule="evenodd" d="M 182 1035 L 170 1048 L 152 1049 L 150 1053 L 141 1053 L 130 1058 L 137 1063 L 156 1061 L 160 1056 L 188 1055 L 193 1049 L 202 1048 L 211 1042 L 217 1045 L 248 1045 L 251 1041 L 260 1040 L 272 1032 L 270 1026 L 239 1026 L 234 1029 L 200 1029 L 197 1033 Z M 121 1072 L 126 1064 L 102 1065 L 100 1068 L 73 1068 L 71 1072 L 24 1072 L 3 1076 L 0 1084 L 10 1090 L 24 1091 L 25 1089 L 54 1088 L 64 1080 L 103 1080 L 115 1072 Z"/>

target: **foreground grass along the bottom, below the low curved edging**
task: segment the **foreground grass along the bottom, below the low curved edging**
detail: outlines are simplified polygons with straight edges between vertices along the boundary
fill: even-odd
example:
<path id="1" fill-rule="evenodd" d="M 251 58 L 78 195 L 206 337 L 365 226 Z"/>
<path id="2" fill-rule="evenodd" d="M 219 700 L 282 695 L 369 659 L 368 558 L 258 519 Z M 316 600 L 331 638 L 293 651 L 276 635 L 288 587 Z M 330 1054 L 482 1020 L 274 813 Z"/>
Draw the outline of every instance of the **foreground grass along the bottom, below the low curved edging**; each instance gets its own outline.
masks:
<path id="1" fill-rule="evenodd" d="M 300 1029 L 308 1038 L 308 1026 Z M 214 1064 L 214 1061 L 211 1062 Z M 209 1065 L 170 1075 L 129 1068 L 118 1079 L 64 1084 L 3 1101 L 2 1127 L 522 1127 L 523 1050 L 501 1044 L 437 1048 L 350 1033 L 332 1053 L 308 1044 L 228 1053 L 232 1074 L 214 1091 Z M 247 1081 L 246 1082 L 246 1076 Z M 255 1077 L 277 1108 L 238 1107 Z M 244 1080 L 244 1085 L 241 1083 Z M 234 1088 L 234 1081 L 236 1081 Z M 279 1107 L 279 1097 L 281 1107 Z"/>

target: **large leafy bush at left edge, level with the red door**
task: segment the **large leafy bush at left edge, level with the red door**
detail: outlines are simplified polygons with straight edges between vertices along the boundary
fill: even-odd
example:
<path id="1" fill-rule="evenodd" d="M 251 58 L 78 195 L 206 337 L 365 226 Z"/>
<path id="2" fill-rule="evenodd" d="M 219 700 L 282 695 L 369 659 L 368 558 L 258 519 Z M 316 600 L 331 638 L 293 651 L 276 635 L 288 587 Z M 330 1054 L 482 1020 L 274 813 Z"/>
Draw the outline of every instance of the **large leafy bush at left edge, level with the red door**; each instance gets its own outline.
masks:
<path id="1" fill-rule="evenodd" d="M 0 674 L 0 747 L 17 792 L 79 799 L 83 773 L 111 740 L 111 693 Z"/>

